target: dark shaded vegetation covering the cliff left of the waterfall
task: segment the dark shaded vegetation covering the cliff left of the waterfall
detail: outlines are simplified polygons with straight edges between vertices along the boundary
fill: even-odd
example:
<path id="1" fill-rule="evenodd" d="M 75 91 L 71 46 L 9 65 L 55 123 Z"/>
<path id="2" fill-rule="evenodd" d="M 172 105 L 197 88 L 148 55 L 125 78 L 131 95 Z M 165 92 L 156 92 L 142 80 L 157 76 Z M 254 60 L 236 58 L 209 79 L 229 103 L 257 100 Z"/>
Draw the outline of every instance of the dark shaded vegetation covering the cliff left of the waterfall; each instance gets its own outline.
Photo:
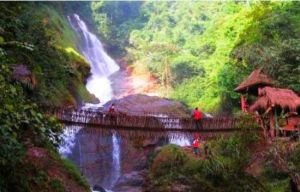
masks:
<path id="1" fill-rule="evenodd" d="M 33 147 L 47 149 L 52 163 L 88 190 L 56 154 L 61 126 L 45 115 L 89 98 L 83 84 L 89 67 L 74 49 L 75 36 L 56 4 L 1 3 L 0 9 L 0 191 L 65 191 L 63 181 L 26 161 Z"/>

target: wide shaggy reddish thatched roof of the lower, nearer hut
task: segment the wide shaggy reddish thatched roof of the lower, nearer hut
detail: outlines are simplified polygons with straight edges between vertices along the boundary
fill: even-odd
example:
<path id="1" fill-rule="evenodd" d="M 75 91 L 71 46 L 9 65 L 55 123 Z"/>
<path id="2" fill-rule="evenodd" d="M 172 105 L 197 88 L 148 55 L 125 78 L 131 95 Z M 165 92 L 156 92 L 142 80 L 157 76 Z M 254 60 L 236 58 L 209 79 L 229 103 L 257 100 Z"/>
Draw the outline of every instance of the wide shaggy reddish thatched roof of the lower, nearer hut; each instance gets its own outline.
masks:
<path id="1" fill-rule="evenodd" d="M 289 89 L 264 87 L 259 89 L 258 96 L 256 102 L 250 107 L 250 111 L 267 110 L 270 106 L 296 111 L 300 107 L 300 97 Z"/>

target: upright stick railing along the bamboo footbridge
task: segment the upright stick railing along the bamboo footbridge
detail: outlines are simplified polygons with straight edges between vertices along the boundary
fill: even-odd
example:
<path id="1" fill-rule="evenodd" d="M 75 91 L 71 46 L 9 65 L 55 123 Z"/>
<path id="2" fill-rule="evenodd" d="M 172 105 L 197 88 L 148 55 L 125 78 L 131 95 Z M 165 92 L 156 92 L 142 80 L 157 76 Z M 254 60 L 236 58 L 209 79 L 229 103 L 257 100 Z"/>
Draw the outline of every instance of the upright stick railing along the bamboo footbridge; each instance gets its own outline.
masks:
<path id="1" fill-rule="evenodd" d="M 137 116 L 121 113 L 110 114 L 89 110 L 59 110 L 55 111 L 55 115 L 62 122 L 81 123 L 92 126 L 159 131 L 195 130 L 195 122 L 192 118 L 165 117 L 160 115 Z M 201 123 L 203 130 L 226 131 L 237 129 L 241 126 L 251 126 L 253 121 L 233 117 L 214 117 L 203 118 Z"/>

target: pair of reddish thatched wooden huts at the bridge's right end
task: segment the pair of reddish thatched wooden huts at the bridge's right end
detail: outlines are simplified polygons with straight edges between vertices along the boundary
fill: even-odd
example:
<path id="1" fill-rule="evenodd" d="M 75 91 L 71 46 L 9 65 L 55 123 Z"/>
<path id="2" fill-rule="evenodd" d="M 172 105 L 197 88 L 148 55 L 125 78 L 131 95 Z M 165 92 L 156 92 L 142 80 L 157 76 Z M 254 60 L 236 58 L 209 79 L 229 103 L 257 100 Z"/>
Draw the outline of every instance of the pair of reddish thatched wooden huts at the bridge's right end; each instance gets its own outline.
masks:
<path id="1" fill-rule="evenodd" d="M 262 69 L 257 69 L 235 88 L 236 92 L 241 93 L 242 111 L 249 111 L 257 117 L 267 138 L 274 137 L 280 129 L 295 131 L 300 126 L 297 113 L 297 109 L 300 108 L 300 97 L 292 90 L 273 88 L 271 87 L 273 85 L 273 80 L 265 75 Z M 253 97 L 253 104 L 249 110 L 244 94 Z M 277 116 L 280 113 L 286 117 L 286 123 L 279 128 Z"/>

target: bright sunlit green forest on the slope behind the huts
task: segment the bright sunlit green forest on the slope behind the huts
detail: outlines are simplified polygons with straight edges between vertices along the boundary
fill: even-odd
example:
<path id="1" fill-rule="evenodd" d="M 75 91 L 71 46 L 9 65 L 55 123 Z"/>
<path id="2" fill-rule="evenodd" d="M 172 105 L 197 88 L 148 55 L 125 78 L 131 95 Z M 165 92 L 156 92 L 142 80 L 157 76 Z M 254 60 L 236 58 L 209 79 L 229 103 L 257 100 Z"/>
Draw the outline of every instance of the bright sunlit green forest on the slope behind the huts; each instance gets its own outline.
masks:
<path id="1" fill-rule="evenodd" d="M 299 2 L 92 3 L 100 35 L 129 64 L 146 66 L 164 95 L 215 112 L 232 111 L 234 87 L 259 67 L 300 91 L 299 9 Z"/>

